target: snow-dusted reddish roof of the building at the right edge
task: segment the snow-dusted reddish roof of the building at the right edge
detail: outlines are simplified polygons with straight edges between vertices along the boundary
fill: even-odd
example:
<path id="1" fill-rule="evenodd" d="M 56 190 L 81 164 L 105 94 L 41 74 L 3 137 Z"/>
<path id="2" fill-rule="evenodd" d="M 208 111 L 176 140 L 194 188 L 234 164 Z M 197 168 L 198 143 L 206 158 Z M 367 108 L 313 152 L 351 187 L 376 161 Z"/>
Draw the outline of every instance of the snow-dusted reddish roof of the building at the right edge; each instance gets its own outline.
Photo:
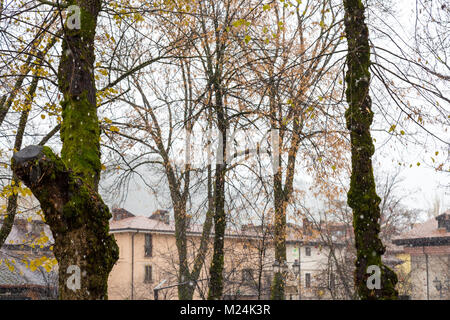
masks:
<path id="1" fill-rule="evenodd" d="M 450 245 L 448 228 L 438 228 L 438 220 L 446 218 L 450 218 L 448 213 L 431 218 L 424 223 L 416 224 L 411 230 L 394 237 L 393 243 L 410 246 Z"/>

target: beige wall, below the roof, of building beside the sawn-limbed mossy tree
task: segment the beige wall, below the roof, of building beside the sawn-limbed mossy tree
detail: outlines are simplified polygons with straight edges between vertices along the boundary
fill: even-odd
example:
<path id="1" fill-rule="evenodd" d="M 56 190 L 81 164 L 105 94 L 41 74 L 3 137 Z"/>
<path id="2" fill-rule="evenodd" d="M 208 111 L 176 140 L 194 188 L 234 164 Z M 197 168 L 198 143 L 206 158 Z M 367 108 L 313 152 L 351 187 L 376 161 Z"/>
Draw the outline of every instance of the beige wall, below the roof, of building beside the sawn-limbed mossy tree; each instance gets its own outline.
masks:
<path id="1" fill-rule="evenodd" d="M 145 257 L 145 234 L 134 234 L 134 268 L 132 268 L 132 233 L 114 233 L 114 237 L 119 246 L 119 260 L 109 275 L 108 296 L 112 300 L 123 299 L 154 299 L 153 288 L 162 280 L 167 280 L 163 286 L 178 283 L 178 252 L 176 249 L 175 236 L 173 234 L 152 233 L 153 252 L 151 257 Z M 206 262 L 202 268 L 194 299 L 204 299 L 207 296 L 208 270 L 212 256 L 212 238 L 210 238 Z M 188 238 L 188 259 L 192 268 L 193 259 L 199 246 L 199 237 Z M 257 280 L 258 269 L 261 266 L 268 268 L 270 258 L 266 257 L 261 262 L 258 248 L 258 240 L 248 240 L 239 238 L 225 239 L 225 288 L 224 296 L 242 296 L 245 298 L 255 298 L 257 281 L 243 282 L 242 272 L 244 269 L 253 270 L 254 280 Z M 152 281 L 145 282 L 145 266 L 152 267 Z M 132 295 L 132 269 L 133 274 L 133 295 Z M 265 270 L 267 274 L 267 270 Z M 264 277 L 263 277 L 264 280 Z M 159 299 L 177 299 L 177 288 L 159 291 Z"/>

